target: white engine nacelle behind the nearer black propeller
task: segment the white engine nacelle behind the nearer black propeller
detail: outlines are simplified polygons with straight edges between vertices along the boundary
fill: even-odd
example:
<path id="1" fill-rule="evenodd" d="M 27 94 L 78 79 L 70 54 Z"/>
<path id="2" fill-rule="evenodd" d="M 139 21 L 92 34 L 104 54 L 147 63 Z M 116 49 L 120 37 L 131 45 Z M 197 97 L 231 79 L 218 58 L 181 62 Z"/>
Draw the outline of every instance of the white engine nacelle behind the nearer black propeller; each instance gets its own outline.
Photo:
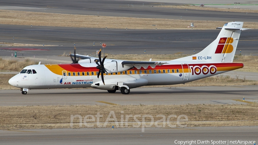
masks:
<path id="1" fill-rule="evenodd" d="M 122 72 L 131 68 L 130 66 L 126 66 L 126 65 L 124 65 L 123 67 L 122 64 L 118 63 L 117 61 L 107 62 L 104 64 L 104 67 L 107 73 Z"/>

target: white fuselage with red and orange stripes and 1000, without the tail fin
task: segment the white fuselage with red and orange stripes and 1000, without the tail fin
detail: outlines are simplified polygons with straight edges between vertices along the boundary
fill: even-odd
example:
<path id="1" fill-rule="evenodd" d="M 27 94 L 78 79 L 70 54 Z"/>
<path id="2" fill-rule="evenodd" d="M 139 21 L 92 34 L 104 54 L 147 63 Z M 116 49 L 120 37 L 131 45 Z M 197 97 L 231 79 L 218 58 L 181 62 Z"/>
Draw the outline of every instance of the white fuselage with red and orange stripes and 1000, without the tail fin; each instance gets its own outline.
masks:
<path id="1" fill-rule="evenodd" d="M 187 83 L 243 67 L 243 64 L 240 63 L 178 63 L 172 61 L 155 68 L 133 68 L 123 72 L 104 74 L 105 85 L 101 81 L 101 76 L 97 78 L 98 70 L 95 69 L 96 64 L 94 63 L 31 65 L 24 69 L 36 70 L 35 74 L 19 73 L 12 77 L 9 83 L 18 88 L 27 89 L 92 87 L 114 90 L 116 85 L 126 85 L 131 89 L 146 85 Z M 68 66 L 76 67 L 70 69 Z M 78 66 L 83 67 L 83 69 L 77 69 Z"/>

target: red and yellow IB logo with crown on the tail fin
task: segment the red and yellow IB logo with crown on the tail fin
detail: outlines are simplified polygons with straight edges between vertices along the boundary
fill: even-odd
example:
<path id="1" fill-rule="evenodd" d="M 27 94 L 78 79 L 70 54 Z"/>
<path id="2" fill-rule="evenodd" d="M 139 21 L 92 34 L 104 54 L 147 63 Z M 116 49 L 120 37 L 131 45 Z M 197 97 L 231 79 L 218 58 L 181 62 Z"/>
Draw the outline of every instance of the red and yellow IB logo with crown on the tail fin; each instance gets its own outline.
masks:
<path id="1" fill-rule="evenodd" d="M 231 37 L 220 38 L 215 53 L 231 53 L 234 49 L 233 46 L 231 45 L 233 43 L 233 41 L 234 40 Z"/>

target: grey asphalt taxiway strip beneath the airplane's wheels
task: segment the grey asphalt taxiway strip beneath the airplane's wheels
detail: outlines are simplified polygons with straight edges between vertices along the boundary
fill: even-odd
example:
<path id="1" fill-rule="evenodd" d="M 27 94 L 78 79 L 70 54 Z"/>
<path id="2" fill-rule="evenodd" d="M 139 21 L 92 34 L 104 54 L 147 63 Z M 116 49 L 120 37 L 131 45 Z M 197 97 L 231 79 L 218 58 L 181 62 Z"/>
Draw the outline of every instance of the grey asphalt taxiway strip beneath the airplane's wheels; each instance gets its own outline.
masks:
<path id="1" fill-rule="evenodd" d="M 108 93 L 97 89 L 0 90 L 0 106 L 27 105 L 182 105 L 182 104 L 243 104 L 236 99 L 258 101 L 257 86 L 222 87 L 161 87 L 130 89 Z M 103 103 L 104 102 L 104 103 Z"/>

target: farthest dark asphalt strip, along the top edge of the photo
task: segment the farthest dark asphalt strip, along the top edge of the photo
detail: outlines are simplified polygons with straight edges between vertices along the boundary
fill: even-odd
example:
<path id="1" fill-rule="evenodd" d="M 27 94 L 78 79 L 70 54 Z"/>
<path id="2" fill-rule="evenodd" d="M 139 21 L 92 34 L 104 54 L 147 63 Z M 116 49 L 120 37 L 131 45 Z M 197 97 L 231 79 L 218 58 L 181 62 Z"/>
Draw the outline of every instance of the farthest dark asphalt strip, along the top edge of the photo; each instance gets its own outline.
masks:
<path id="1" fill-rule="evenodd" d="M 231 0 L 232 1 L 232 0 Z M 1 9 L 15 9 L 21 11 L 35 11 L 46 13 L 67 13 L 80 15 L 105 15 L 105 16 L 122 16 L 122 17 L 145 17 L 145 18 L 165 18 L 165 19 L 190 19 L 190 20 L 215 20 L 215 21 L 252 21 L 257 22 L 258 13 L 236 13 L 236 12 L 220 12 L 205 10 L 187 10 L 173 9 L 159 6 L 161 3 L 140 1 L 68 1 L 55 0 L 1 0 Z M 174 1 L 174 3 L 163 3 L 163 5 L 182 5 Z M 198 3 L 198 1 L 196 1 Z M 191 1 L 194 3 L 194 1 Z M 231 3 L 234 3 L 232 1 Z M 129 7 L 128 7 L 129 5 Z M 132 7 L 133 5 L 133 7 Z M 15 6 L 15 7 L 14 7 Z M 46 9 L 46 11 L 45 11 Z M 257 9 L 257 8 L 256 8 Z"/>

